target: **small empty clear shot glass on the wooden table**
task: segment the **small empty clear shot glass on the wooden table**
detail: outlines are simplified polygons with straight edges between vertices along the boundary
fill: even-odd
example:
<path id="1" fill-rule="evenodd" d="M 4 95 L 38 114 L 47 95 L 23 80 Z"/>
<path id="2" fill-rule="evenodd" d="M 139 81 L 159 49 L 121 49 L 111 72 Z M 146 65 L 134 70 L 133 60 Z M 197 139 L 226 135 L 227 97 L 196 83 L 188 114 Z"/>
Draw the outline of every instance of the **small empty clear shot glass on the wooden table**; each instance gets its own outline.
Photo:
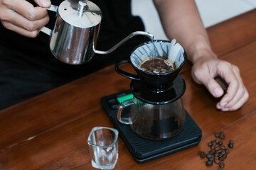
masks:
<path id="1" fill-rule="evenodd" d="M 92 128 L 87 143 L 92 167 L 114 169 L 118 159 L 118 131 L 114 128 Z"/>

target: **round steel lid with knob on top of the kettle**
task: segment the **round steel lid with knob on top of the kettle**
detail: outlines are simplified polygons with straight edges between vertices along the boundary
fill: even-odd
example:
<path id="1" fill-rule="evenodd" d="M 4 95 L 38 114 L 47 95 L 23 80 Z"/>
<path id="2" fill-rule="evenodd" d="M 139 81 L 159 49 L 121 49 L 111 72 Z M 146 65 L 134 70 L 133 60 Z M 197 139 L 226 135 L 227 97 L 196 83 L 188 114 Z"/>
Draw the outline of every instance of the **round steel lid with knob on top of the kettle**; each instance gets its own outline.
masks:
<path id="1" fill-rule="evenodd" d="M 79 28 L 97 26 L 102 20 L 100 8 L 87 0 L 65 0 L 58 7 L 58 14 L 66 23 Z"/>

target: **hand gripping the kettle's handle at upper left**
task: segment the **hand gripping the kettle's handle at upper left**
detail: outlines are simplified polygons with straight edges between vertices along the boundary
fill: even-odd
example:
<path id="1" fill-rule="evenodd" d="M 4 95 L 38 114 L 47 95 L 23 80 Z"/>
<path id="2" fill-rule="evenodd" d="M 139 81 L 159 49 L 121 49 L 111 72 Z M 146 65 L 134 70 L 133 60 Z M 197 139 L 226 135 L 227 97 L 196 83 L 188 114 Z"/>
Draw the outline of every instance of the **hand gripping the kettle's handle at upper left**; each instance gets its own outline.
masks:
<path id="1" fill-rule="evenodd" d="M 34 38 L 48 21 L 50 0 L 35 0 L 34 7 L 26 0 L 0 0 L 0 21 L 3 26 L 14 32 Z"/>

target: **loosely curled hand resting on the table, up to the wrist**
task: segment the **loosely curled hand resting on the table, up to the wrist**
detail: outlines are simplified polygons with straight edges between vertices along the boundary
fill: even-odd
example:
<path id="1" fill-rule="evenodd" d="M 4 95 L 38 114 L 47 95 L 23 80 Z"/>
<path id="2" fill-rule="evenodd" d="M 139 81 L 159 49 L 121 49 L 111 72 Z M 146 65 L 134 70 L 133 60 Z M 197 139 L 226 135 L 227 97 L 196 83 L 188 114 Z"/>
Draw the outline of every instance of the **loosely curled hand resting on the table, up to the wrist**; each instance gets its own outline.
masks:
<path id="1" fill-rule="evenodd" d="M 223 96 L 216 106 L 221 111 L 235 111 L 249 98 L 238 67 L 217 57 L 201 57 L 196 60 L 193 63 L 192 77 L 198 84 L 204 84 L 216 98 Z M 225 89 L 218 84 L 215 77 L 220 77 L 227 84 L 225 94 Z"/>

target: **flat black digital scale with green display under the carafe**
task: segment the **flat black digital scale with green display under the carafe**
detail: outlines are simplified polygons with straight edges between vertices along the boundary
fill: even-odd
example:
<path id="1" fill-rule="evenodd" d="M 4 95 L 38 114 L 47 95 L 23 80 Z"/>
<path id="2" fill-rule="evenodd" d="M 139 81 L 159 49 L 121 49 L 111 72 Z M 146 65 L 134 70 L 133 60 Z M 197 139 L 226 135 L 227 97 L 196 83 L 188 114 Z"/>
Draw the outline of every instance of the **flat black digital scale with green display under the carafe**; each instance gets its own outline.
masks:
<path id="1" fill-rule="evenodd" d="M 202 131 L 186 112 L 186 120 L 183 129 L 178 135 L 168 140 L 147 140 L 132 131 L 129 125 L 119 123 L 117 120 L 117 108 L 119 103 L 132 100 L 131 91 L 122 91 L 117 94 L 102 97 L 100 102 L 110 117 L 114 127 L 119 131 L 119 135 L 124 144 L 129 149 L 132 157 L 139 163 L 148 162 L 151 159 L 173 154 L 182 149 L 198 145 L 201 140 Z M 129 109 L 124 111 L 124 115 L 129 115 Z"/>

